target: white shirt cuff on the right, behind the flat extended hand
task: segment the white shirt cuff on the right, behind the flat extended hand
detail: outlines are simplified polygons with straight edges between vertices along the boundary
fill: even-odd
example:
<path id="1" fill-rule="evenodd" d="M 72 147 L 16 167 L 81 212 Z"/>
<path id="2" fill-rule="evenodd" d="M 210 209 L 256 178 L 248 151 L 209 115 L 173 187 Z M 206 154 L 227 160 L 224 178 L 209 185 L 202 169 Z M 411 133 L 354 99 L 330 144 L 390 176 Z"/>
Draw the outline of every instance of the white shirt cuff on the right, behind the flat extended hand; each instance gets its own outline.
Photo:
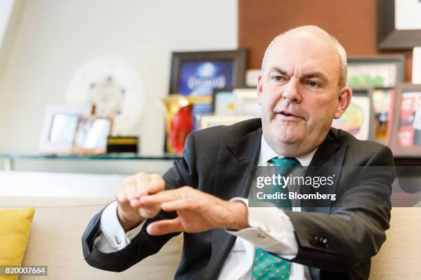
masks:
<path id="1" fill-rule="evenodd" d="M 232 198 L 230 201 L 241 201 L 248 207 L 246 198 Z M 250 227 L 246 229 L 226 231 L 285 259 L 296 257 L 298 244 L 294 226 L 282 209 L 248 207 L 248 224 Z"/>

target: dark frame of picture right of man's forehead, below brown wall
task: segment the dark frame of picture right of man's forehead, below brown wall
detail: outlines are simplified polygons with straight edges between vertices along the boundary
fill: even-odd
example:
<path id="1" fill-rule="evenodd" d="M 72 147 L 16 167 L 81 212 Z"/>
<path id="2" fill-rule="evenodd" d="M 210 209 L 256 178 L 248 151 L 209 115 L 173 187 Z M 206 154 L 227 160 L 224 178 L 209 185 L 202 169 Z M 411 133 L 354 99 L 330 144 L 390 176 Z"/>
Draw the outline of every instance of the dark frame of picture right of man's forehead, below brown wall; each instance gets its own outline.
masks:
<path id="1" fill-rule="evenodd" d="M 405 58 L 403 54 L 381 54 L 377 56 L 349 56 L 347 58 L 348 68 L 354 65 L 389 65 L 393 64 L 396 67 L 395 83 L 392 85 L 376 85 L 376 84 L 349 84 L 349 86 L 371 86 L 371 87 L 394 87 L 405 78 Z M 348 83 L 349 83 L 348 70 Z"/>

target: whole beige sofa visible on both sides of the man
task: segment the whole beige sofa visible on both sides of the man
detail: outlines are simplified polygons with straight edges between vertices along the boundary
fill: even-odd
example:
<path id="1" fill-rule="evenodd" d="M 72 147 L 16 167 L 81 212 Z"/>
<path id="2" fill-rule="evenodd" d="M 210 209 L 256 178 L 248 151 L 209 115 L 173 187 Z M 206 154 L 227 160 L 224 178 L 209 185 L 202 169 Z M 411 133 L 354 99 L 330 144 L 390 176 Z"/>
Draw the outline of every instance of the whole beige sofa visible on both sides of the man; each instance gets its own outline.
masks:
<path id="1" fill-rule="evenodd" d="M 125 272 L 102 271 L 86 264 L 80 237 L 90 218 L 109 201 L 109 198 L 0 197 L 0 207 L 36 207 L 23 264 L 47 265 L 48 276 L 42 279 L 173 279 L 180 261 L 182 235 Z M 372 261 L 370 279 L 420 279 L 420 232 L 421 208 L 393 209 L 387 242 Z"/>

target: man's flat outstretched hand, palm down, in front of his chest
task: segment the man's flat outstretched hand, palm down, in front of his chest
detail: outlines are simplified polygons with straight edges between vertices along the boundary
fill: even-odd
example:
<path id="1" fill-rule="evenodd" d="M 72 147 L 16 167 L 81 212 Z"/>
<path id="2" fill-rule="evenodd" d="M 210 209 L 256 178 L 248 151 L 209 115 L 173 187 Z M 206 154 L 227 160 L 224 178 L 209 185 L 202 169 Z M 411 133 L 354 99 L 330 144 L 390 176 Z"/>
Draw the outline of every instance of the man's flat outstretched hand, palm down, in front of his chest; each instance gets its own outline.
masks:
<path id="1" fill-rule="evenodd" d="M 197 233 L 215 228 L 244 229 L 248 226 L 247 207 L 243 202 L 228 202 L 192 187 L 180 187 L 142 196 L 144 207 L 161 205 L 164 211 L 177 211 L 173 220 L 160 220 L 147 227 L 151 235 L 186 231 Z"/>

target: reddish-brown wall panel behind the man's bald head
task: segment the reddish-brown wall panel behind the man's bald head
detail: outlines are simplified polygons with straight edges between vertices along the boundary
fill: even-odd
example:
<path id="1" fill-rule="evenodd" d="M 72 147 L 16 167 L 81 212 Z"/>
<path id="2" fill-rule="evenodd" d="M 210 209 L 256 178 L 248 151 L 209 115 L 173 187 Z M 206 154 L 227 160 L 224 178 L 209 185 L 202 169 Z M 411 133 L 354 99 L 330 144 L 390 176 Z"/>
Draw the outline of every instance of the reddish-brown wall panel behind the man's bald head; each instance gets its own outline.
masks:
<path id="1" fill-rule="evenodd" d="M 382 1 L 382 0 L 378 0 Z M 338 38 L 348 56 L 404 54 L 411 80 L 412 50 L 378 51 L 376 0 L 238 0 L 239 47 L 249 49 L 248 69 L 260 68 L 270 40 L 301 25 L 317 25 Z"/>

